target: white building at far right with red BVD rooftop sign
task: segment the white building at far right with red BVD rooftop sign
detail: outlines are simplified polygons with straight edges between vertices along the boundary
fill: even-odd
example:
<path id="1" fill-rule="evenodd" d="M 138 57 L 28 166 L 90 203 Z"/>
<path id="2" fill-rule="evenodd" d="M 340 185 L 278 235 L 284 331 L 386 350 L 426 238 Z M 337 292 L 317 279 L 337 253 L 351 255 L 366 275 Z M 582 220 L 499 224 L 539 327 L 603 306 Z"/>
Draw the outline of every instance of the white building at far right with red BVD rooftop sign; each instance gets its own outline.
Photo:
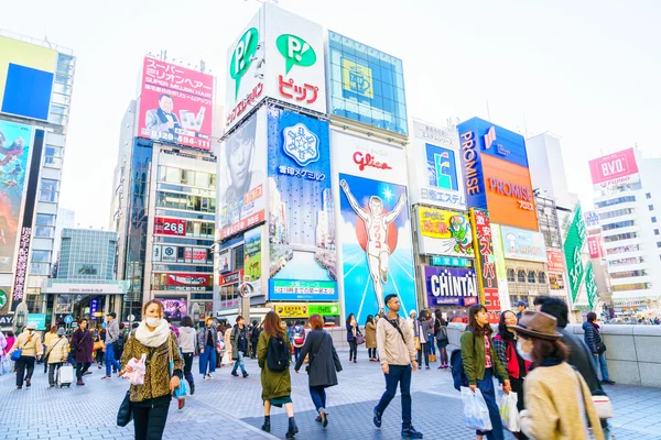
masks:
<path id="1" fill-rule="evenodd" d="M 637 148 L 589 162 L 617 316 L 659 308 L 661 160 Z"/>

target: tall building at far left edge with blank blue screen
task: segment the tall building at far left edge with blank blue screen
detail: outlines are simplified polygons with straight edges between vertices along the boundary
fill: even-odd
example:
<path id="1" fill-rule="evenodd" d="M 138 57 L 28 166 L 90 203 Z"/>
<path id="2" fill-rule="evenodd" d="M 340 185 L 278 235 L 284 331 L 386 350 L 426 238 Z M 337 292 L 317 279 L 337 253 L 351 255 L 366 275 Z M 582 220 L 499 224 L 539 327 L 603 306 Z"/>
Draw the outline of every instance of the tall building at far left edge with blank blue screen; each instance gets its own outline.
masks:
<path id="1" fill-rule="evenodd" d="M 0 312 L 15 311 L 19 326 L 52 307 L 42 284 L 54 261 L 75 69 L 71 50 L 0 31 L 0 290 L 9 297 Z"/>

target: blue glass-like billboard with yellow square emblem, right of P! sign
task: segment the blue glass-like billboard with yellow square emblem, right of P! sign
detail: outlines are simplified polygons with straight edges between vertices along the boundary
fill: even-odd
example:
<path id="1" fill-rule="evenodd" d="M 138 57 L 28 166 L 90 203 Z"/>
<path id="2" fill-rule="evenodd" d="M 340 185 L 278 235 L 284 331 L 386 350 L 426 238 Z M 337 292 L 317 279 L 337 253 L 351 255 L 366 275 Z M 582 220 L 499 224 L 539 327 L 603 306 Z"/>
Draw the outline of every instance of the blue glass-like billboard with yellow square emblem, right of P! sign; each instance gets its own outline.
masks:
<path id="1" fill-rule="evenodd" d="M 328 113 L 409 135 L 402 61 L 328 31 Z"/>

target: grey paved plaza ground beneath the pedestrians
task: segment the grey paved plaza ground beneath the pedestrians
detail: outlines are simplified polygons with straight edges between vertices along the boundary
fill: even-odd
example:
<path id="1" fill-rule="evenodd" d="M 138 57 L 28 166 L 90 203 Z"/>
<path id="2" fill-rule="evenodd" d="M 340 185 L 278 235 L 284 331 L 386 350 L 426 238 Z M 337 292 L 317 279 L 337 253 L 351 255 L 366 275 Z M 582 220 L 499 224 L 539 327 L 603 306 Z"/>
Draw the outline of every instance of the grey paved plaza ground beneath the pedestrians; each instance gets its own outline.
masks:
<path id="1" fill-rule="evenodd" d="M 362 359 L 360 359 L 362 358 Z M 359 363 L 347 362 L 339 385 L 328 389 L 329 425 L 324 430 L 314 421 L 314 406 L 307 393 L 307 376 L 292 374 L 297 439 L 399 439 L 401 416 L 399 396 L 383 416 L 382 428 L 371 422 L 371 411 L 383 392 L 383 376 L 378 363 L 369 362 L 366 352 Z M 173 403 L 164 439 L 283 439 L 286 416 L 283 409 L 272 413 L 272 436 L 260 431 L 262 422 L 261 387 L 257 361 L 248 360 L 250 377 L 232 377 L 230 370 L 217 370 L 213 381 L 196 378 L 196 393 L 186 399 L 183 410 Z M 31 388 L 18 391 L 14 375 L 0 377 L 0 440 L 130 439 L 132 422 L 116 426 L 117 409 L 128 383 L 112 378 L 101 381 L 104 370 L 93 366 L 85 386 L 71 389 L 48 388 L 43 366 L 37 365 Z M 197 371 L 197 365 L 194 365 Z M 661 440 L 661 389 L 616 385 L 607 388 L 614 400 L 616 418 L 611 419 L 614 438 L 618 440 Z M 412 383 L 413 424 L 425 439 L 474 439 L 462 422 L 462 400 L 452 386 L 448 371 L 421 371 Z M 511 435 L 507 439 L 513 439 Z"/>

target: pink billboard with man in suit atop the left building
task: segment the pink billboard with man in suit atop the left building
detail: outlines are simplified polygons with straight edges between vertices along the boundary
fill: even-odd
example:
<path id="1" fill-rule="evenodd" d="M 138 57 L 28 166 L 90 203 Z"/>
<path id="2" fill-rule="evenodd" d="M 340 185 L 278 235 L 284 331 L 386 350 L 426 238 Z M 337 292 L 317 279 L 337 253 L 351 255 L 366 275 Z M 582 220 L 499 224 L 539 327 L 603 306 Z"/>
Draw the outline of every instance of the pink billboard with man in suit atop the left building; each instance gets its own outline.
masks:
<path id="1" fill-rule="evenodd" d="M 212 150 L 214 77 L 144 57 L 138 135 Z"/>

